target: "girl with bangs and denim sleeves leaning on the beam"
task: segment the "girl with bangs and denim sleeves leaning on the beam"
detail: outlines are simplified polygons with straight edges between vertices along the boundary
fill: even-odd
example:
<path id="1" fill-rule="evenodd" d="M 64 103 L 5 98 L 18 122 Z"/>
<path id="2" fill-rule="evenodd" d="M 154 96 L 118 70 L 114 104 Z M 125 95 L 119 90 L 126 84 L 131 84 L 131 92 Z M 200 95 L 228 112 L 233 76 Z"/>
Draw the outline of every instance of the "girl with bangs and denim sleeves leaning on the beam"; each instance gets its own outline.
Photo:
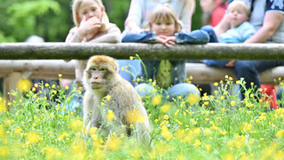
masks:
<path id="1" fill-rule="evenodd" d="M 207 44 L 209 36 L 206 32 L 195 30 L 189 34 L 181 33 L 182 23 L 177 20 L 176 12 L 169 4 L 157 6 L 146 23 L 146 31 L 140 34 L 128 33 L 122 42 L 160 43 L 167 47 L 170 44 Z M 169 95 L 187 96 L 200 92 L 193 84 L 185 81 L 185 60 L 143 60 L 146 70 L 142 69 L 142 76 L 156 80 L 165 89 L 170 87 Z M 144 90 L 145 89 L 145 90 Z M 152 85 L 138 84 L 136 90 L 140 95 L 146 95 L 153 89 Z"/>

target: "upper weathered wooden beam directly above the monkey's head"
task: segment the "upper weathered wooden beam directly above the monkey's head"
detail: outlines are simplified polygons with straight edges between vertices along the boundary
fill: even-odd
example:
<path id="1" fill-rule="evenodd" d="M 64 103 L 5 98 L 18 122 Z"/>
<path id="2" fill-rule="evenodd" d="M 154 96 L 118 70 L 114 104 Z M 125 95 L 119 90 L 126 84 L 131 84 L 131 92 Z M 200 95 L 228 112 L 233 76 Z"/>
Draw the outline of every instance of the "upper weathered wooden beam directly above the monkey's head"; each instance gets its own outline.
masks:
<path id="1" fill-rule="evenodd" d="M 104 54 L 144 60 L 284 60 L 283 44 L 2 43 L 0 60 L 87 60 Z"/>

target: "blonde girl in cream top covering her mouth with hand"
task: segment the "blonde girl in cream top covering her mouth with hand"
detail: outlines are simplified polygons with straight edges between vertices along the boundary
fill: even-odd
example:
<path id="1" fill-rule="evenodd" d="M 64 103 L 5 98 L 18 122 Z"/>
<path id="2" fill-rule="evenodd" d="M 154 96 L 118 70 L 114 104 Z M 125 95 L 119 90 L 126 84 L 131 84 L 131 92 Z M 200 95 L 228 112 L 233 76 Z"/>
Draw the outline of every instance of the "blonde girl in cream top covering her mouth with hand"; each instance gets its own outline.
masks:
<path id="1" fill-rule="evenodd" d="M 71 28 L 67 43 L 118 43 L 121 31 L 110 23 L 101 0 L 74 0 L 72 14 L 75 28 Z M 75 82 L 82 86 L 86 60 L 76 60 Z"/>

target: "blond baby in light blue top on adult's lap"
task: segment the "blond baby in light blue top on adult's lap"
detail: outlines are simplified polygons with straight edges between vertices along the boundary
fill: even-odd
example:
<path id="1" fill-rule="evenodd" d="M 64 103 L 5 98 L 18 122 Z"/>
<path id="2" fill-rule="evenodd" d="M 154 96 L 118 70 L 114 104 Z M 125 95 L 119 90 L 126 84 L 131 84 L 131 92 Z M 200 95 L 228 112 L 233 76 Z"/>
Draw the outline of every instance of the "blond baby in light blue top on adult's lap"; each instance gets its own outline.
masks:
<path id="1" fill-rule="evenodd" d="M 220 36 L 220 43 L 226 44 L 241 44 L 256 32 L 255 28 L 248 22 L 250 15 L 249 6 L 243 1 L 233 1 L 227 8 L 228 21 L 230 29 Z M 217 43 L 217 37 L 210 26 L 205 26 L 204 29 L 209 32 L 209 35 L 215 36 L 212 42 Z M 210 41 L 211 42 L 211 41 Z M 208 66 L 225 67 L 229 60 L 202 60 Z"/>

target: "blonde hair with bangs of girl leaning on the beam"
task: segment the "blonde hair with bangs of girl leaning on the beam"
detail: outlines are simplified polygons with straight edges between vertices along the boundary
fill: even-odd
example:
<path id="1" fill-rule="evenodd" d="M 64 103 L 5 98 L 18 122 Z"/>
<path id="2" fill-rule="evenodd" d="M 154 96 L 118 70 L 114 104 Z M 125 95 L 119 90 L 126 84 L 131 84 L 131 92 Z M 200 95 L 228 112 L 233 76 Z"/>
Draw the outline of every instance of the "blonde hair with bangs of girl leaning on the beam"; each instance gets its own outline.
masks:
<path id="1" fill-rule="evenodd" d="M 170 4 L 158 5 L 154 8 L 149 21 L 146 23 L 145 29 L 151 30 L 151 25 L 158 21 L 167 21 L 175 24 L 175 32 L 180 32 L 183 24 L 177 19 L 177 13 Z"/>

